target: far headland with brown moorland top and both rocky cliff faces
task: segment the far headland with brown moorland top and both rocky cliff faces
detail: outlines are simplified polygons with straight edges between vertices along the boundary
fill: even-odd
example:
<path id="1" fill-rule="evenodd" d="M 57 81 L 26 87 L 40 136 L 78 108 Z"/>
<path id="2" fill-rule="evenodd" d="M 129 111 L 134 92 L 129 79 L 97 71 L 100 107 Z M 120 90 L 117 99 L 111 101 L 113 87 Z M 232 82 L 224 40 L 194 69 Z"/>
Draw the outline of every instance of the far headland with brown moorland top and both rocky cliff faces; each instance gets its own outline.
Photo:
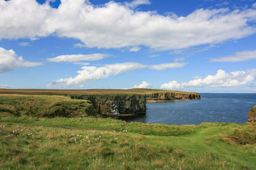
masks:
<path id="1" fill-rule="evenodd" d="M 196 92 L 159 89 L 0 89 L 0 94 L 57 95 L 86 99 L 93 105 L 92 113 L 100 115 L 145 115 L 147 102 L 200 99 Z"/>

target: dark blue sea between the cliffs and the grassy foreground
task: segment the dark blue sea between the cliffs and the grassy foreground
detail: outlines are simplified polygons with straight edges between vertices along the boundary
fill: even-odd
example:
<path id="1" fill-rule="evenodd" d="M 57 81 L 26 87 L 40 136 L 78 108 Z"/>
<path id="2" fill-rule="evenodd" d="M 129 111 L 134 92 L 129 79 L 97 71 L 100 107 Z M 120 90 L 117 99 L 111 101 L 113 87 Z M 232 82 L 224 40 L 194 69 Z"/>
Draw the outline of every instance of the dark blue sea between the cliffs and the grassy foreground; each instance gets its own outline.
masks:
<path id="1" fill-rule="evenodd" d="M 256 105 L 256 94 L 201 94 L 202 99 L 147 103 L 144 117 L 122 118 L 127 122 L 189 125 L 202 122 L 247 122 L 247 113 Z"/>

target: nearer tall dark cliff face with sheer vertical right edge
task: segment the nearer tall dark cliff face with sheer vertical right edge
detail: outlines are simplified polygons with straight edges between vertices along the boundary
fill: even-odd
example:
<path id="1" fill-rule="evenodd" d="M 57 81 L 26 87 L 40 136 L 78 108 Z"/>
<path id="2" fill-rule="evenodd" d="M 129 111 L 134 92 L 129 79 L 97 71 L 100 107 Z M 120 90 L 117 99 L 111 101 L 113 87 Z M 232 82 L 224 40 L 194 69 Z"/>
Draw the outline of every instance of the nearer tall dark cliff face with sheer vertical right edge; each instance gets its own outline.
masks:
<path id="1" fill-rule="evenodd" d="M 84 95 L 71 96 L 72 99 L 91 101 L 96 113 L 100 115 L 145 115 L 146 95 L 113 94 L 113 95 Z"/>

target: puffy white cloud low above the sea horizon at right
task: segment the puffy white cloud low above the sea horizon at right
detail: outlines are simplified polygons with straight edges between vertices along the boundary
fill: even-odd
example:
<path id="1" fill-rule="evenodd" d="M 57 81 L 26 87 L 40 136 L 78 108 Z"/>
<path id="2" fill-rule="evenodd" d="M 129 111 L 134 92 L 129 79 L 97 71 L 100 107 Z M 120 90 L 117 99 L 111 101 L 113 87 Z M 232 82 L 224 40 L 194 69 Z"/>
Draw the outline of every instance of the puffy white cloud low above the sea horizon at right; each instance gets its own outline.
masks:
<path id="1" fill-rule="evenodd" d="M 178 81 L 170 81 L 161 85 L 161 89 L 179 89 L 185 87 L 238 87 L 246 85 L 256 77 L 256 69 L 248 71 L 234 71 L 226 73 L 219 69 L 215 75 L 208 75 L 205 78 L 197 77 L 188 83 L 179 83 Z"/>

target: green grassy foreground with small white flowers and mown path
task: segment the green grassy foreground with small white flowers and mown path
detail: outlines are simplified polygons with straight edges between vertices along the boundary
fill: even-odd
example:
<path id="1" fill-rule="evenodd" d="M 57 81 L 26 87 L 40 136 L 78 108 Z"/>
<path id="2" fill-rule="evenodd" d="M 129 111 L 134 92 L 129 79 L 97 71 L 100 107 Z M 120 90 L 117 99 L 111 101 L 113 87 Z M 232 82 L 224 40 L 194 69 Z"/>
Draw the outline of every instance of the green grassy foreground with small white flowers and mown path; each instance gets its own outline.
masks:
<path id="1" fill-rule="evenodd" d="M 0 118 L 0 169 L 255 169 L 256 124 Z"/>

